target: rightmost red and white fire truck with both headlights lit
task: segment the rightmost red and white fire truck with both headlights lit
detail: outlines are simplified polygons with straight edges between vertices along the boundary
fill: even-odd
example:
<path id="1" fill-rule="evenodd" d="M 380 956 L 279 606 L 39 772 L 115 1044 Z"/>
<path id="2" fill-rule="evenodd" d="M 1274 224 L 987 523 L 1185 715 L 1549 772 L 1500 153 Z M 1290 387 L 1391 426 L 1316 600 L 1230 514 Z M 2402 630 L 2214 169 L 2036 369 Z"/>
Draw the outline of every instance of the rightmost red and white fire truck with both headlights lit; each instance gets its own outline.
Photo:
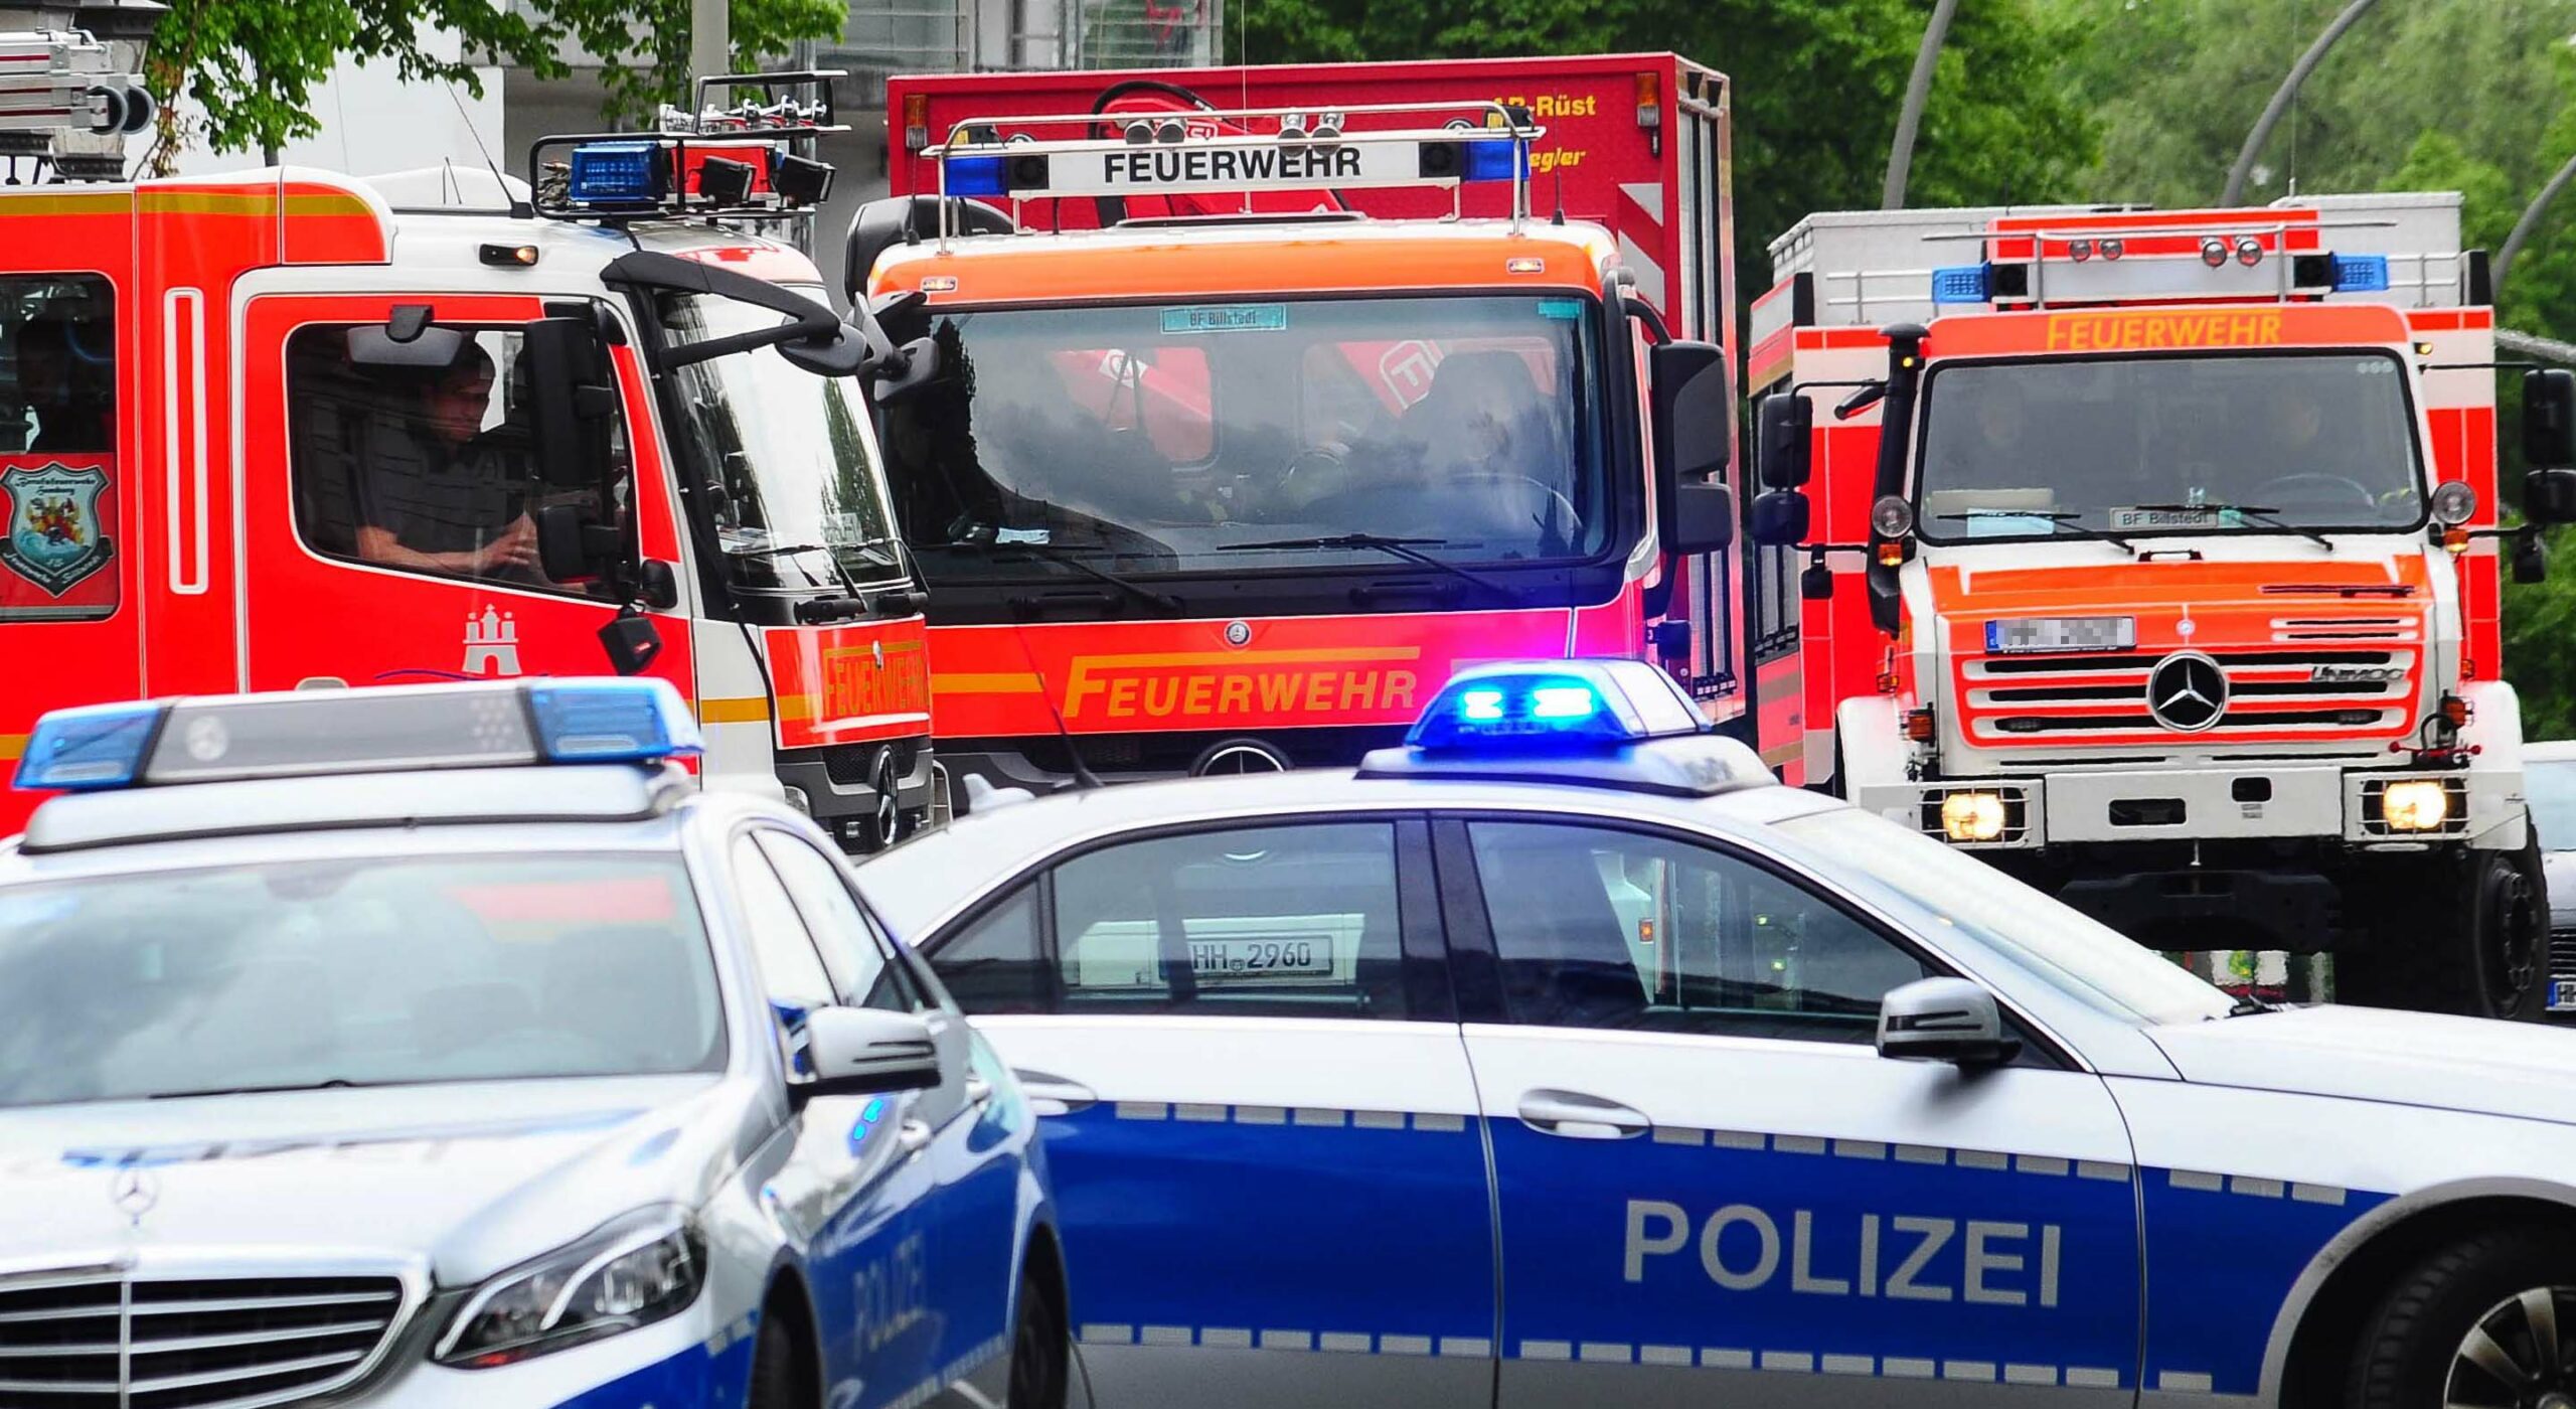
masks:
<path id="1" fill-rule="evenodd" d="M 1819 214 L 1754 307 L 1814 778 L 2166 950 L 2530 1015 L 2496 366 L 2458 196 Z M 2571 379 L 2524 384 L 2568 513 Z"/>

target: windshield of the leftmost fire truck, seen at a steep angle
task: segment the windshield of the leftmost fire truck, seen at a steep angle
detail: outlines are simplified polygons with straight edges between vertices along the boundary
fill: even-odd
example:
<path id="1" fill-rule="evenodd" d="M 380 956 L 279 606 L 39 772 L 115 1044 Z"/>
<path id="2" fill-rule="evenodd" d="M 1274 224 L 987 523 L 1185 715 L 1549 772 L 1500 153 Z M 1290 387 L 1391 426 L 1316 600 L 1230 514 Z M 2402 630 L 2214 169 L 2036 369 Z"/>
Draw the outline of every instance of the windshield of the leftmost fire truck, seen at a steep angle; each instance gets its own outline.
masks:
<path id="1" fill-rule="evenodd" d="M 801 288 L 822 301 L 822 288 Z M 675 345 L 757 332 L 781 314 L 734 299 L 662 299 Z M 672 435 L 701 482 L 737 587 L 840 587 L 902 577 L 858 379 L 814 376 L 778 348 L 683 366 Z M 840 572 L 835 562 L 840 559 Z"/>

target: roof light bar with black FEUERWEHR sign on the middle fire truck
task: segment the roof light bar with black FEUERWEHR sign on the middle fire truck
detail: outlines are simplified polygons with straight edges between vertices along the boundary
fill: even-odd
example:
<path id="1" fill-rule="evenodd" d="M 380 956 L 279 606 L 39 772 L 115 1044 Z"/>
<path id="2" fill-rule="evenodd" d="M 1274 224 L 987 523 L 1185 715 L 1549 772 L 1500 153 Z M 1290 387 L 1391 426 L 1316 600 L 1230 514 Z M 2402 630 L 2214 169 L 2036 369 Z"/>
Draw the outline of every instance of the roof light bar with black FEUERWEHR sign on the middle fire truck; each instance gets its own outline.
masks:
<path id="1" fill-rule="evenodd" d="M 1409 118 L 1409 121 L 1406 121 Z M 1373 124 L 1404 126 L 1373 126 Z M 1128 198 L 1255 191 L 1512 185 L 1530 214 L 1530 144 L 1546 129 L 1515 103 L 1373 103 L 1149 113 L 1095 137 L 1100 113 L 969 118 L 922 155 L 945 198 Z M 1007 134 L 1002 129 L 1010 129 Z M 1048 137 L 1072 131 L 1074 137 Z M 945 206 L 943 206 L 945 209 Z M 953 234 L 943 224 L 940 237 Z"/>

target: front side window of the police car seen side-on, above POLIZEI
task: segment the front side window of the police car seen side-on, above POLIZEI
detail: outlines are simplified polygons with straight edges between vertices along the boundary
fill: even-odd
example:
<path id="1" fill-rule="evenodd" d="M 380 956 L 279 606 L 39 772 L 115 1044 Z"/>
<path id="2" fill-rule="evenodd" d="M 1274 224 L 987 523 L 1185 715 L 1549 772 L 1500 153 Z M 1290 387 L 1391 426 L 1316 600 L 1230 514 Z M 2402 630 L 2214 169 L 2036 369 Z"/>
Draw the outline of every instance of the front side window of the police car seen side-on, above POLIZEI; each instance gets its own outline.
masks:
<path id="1" fill-rule="evenodd" d="M 1919 958 L 1708 847 L 1582 824 L 1468 827 L 1512 1023 L 1868 1043 Z"/>

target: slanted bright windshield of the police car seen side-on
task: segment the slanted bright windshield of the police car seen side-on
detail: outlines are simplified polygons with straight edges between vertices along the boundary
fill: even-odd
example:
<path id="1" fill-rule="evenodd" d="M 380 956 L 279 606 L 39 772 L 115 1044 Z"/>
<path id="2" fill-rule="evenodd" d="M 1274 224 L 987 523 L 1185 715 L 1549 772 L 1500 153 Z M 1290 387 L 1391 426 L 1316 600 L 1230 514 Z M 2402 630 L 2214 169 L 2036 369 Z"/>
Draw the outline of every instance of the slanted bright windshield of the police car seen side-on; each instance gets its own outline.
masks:
<path id="1" fill-rule="evenodd" d="M 2099 920 L 1883 817 L 1829 809 L 1777 829 L 2123 1023 L 2226 1017 L 2236 1002 Z"/>

